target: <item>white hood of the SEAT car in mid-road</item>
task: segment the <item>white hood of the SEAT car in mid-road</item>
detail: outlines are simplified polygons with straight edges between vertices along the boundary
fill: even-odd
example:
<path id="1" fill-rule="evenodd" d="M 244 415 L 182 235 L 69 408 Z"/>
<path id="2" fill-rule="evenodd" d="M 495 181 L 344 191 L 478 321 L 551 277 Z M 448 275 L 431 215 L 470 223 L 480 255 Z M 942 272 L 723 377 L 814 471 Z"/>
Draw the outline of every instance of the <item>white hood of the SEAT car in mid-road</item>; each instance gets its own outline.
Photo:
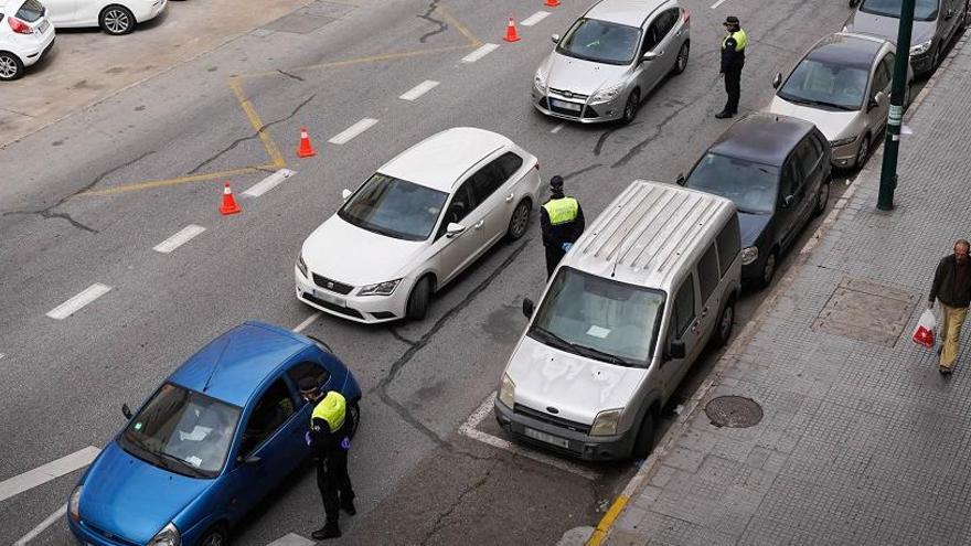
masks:
<path id="1" fill-rule="evenodd" d="M 301 251 L 311 271 L 360 287 L 404 277 L 425 243 L 369 232 L 334 214 L 307 237 Z"/>

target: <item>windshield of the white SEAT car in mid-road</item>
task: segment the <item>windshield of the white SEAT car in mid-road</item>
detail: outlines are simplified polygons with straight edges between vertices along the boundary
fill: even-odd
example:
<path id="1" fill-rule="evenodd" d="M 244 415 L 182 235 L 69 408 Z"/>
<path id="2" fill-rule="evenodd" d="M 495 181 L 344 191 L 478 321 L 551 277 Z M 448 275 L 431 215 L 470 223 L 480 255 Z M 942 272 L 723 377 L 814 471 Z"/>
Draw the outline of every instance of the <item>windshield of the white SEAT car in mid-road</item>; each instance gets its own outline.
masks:
<path id="1" fill-rule="evenodd" d="M 369 232 L 406 240 L 425 240 L 448 194 L 405 180 L 374 173 L 344 203 L 338 215 Z"/>

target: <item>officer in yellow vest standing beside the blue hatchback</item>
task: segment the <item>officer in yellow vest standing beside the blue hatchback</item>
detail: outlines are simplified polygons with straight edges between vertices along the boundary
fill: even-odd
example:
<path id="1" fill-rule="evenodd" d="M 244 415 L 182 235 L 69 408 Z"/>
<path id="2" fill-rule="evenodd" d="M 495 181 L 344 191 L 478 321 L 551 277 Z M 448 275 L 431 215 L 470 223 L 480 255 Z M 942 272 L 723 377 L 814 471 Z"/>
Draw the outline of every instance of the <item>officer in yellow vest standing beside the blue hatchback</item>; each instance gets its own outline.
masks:
<path id="1" fill-rule="evenodd" d="M 314 405 L 307 442 L 313 450 L 317 488 L 327 514 L 327 524 L 311 536 L 314 540 L 337 538 L 341 536 L 338 525 L 341 508 L 348 515 L 358 513 L 354 508 L 354 490 L 348 475 L 348 450 L 351 449 L 349 431 L 353 430 L 353 424 L 348 422 L 348 402 L 334 390 L 324 396 L 317 382 L 310 377 L 300 379 L 297 386 L 303 399 Z"/>

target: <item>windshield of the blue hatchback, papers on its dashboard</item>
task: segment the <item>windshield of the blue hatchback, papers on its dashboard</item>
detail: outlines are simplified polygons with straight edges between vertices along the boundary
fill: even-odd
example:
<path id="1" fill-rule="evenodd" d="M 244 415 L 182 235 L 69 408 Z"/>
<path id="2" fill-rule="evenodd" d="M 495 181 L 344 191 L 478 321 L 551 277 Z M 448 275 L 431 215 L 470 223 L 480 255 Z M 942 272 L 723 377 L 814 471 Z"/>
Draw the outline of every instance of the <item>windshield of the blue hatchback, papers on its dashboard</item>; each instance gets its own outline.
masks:
<path id="1" fill-rule="evenodd" d="M 239 408 L 166 383 L 131 418 L 121 447 L 152 464 L 212 478 L 226 462 Z"/>

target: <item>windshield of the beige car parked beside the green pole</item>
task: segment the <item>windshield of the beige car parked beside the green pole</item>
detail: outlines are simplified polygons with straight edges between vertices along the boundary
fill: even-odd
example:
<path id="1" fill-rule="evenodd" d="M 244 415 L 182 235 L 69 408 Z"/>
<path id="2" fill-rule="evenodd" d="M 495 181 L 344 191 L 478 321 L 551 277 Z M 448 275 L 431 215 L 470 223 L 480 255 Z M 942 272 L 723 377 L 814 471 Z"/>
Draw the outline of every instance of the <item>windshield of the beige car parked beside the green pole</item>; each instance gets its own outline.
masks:
<path id="1" fill-rule="evenodd" d="M 863 68 L 804 58 L 779 89 L 779 97 L 805 106 L 858 110 L 867 75 Z"/>

